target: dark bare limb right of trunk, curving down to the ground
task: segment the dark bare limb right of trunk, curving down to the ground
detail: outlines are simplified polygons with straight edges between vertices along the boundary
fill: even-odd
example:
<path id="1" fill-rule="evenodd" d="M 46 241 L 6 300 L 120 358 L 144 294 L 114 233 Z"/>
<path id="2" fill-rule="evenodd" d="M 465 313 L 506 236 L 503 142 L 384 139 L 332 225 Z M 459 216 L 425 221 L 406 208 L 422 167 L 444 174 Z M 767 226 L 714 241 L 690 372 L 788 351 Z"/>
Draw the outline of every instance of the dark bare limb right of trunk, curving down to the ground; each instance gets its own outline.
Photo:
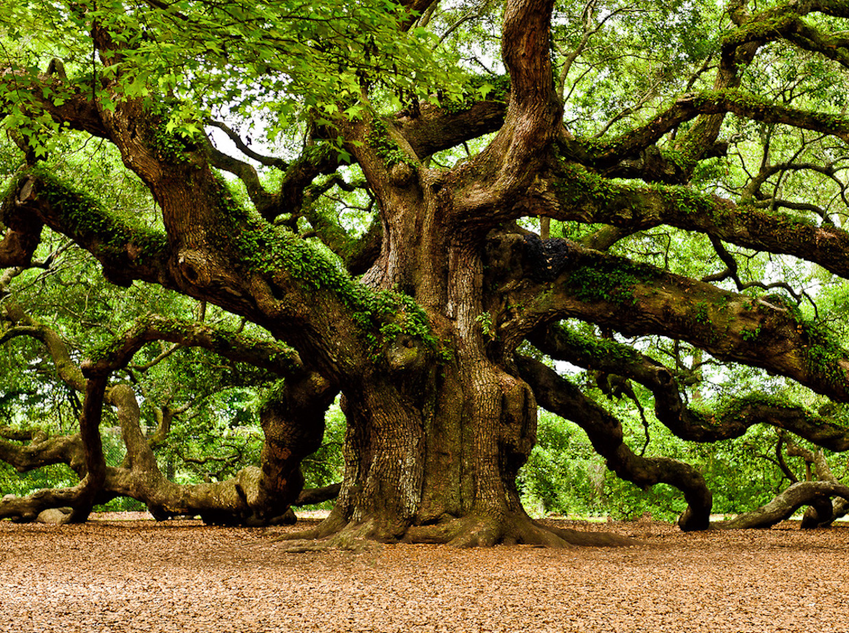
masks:
<path id="1" fill-rule="evenodd" d="M 539 405 L 584 429 L 595 451 L 607 460 L 607 467 L 617 476 L 641 488 L 655 484 L 678 488 L 688 503 L 678 519 L 681 529 L 708 527 L 713 496 L 698 470 L 668 457 L 638 456 L 624 444 L 619 420 L 583 395 L 581 389 L 542 362 L 517 356 L 516 363 Z"/>

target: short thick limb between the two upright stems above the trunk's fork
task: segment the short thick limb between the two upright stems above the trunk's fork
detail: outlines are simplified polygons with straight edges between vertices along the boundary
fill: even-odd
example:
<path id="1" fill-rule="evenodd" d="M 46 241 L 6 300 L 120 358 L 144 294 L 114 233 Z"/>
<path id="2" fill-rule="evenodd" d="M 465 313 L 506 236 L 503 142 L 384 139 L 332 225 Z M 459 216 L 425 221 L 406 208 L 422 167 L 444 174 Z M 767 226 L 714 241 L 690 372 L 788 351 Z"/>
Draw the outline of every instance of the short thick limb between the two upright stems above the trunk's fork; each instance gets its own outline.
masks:
<path id="1" fill-rule="evenodd" d="M 499 96 L 462 108 L 421 104 L 414 111 L 405 109 L 396 115 L 396 126 L 419 160 L 424 160 L 443 149 L 498 132 L 507 112 L 507 104 Z"/>

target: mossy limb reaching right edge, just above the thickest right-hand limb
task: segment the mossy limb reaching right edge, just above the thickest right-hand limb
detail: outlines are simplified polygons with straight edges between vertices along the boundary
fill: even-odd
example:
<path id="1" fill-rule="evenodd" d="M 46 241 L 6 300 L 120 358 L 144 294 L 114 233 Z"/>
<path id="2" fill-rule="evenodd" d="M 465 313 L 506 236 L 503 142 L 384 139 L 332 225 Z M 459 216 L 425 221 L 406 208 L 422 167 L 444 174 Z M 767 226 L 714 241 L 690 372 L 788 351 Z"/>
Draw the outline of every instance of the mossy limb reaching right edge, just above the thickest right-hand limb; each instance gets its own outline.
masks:
<path id="1" fill-rule="evenodd" d="M 559 220 L 633 231 L 666 224 L 749 249 L 794 255 L 849 278 L 849 232 L 689 188 L 630 187 L 565 165 L 552 188 L 552 202 L 548 214 Z"/>

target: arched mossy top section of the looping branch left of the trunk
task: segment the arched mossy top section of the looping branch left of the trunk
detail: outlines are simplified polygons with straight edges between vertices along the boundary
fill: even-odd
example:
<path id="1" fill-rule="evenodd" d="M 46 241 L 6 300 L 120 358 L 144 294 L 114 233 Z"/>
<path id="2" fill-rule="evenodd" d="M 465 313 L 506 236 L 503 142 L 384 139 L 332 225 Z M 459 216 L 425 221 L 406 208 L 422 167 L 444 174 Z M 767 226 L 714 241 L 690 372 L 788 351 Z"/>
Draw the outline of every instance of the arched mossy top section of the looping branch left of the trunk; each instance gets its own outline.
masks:
<path id="1" fill-rule="evenodd" d="M 298 353 L 285 345 L 257 341 L 205 323 L 149 314 L 138 319 L 113 344 L 96 351 L 87 372 L 99 375 L 126 367 L 143 345 L 155 340 L 203 347 L 233 361 L 247 362 L 281 376 L 300 376 L 305 371 Z"/>

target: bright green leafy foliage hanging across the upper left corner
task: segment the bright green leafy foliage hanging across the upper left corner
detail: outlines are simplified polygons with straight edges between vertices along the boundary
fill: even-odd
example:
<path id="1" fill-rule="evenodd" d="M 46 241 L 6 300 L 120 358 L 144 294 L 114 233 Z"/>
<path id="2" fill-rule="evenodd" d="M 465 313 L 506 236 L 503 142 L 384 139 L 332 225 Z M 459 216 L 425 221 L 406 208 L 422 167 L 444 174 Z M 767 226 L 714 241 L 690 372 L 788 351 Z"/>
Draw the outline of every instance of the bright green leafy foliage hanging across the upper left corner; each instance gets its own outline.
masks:
<path id="1" fill-rule="evenodd" d="M 433 35 L 403 31 L 408 13 L 391 0 L 13 4 L 0 8 L 9 58 L 0 66 L 15 73 L 0 87 L 0 107 L 18 113 L 11 126 L 26 127 L 42 109 L 26 100 L 34 88 L 57 92 L 44 97 L 53 104 L 91 94 L 107 112 L 125 98 L 167 95 L 186 104 L 185 129 L 172 121 L 171 130 L 197 132 L 193 121 L 224 112 L 261 118 L 271 138 L 299 120 L 331 126 L 361 117 L 369 88 L 396 109 L 400 95 L 424 101 L 437 88 L 456 92 Z M 66 80 L 43 75 L 53 58 L 65 61 Z"/>

